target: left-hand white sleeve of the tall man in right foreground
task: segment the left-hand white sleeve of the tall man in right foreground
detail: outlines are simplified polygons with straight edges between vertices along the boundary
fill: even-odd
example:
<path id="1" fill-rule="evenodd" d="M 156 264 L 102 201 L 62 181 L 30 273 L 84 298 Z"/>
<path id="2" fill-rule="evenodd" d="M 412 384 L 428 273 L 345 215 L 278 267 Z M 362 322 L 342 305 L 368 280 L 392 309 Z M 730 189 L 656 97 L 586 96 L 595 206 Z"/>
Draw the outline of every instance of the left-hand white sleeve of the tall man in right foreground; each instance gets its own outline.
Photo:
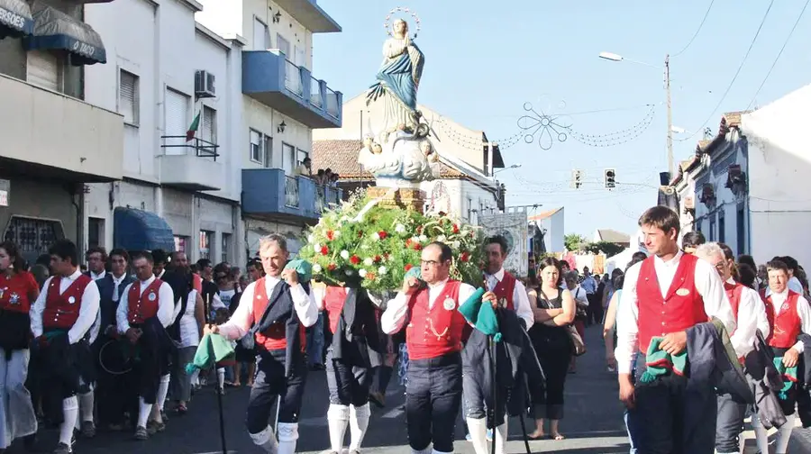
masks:
<path id="1" fill-rule="evenodd" d="M 636 281 L 642 263 L 637 263 L 625 272 L 623 294 L 620 295 L 619 308 L 616 311 L 616 371 L 619 374 L 630 374 L 633 370 L 633 359 L 639 350 L 639 299 L 636 296 Z"/>

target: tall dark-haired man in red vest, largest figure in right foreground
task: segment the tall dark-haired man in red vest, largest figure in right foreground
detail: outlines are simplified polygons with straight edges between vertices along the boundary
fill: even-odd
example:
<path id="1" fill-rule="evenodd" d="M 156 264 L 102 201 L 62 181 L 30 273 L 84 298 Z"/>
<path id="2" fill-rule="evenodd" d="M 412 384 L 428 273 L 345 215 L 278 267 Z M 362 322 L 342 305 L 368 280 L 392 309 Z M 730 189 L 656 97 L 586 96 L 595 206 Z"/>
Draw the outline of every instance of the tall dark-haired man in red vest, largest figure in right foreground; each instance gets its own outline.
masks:
<path id="1" fill-rule="evenodd" d="M 712 452 L 716 402 L 711 386 L 700 392 L 688 391 L 687 379 L 670 373 L 635 389 L 633 365 L 637 358 L 645 358 L 653 338 L 662 339 L 660 350 L 667 354 L 683 353 L 687 350 L 687 330 L 712 317 L 723 322 L 727 331 L 734 331 L 734 314 L 715 268 L 679 250 L 677 213 L 666 206 L 654 206 L 642 213 L 639 225 L 651 256 L 625 273 L 616 315 L 620 400 L 635 409 L 639 421 L 645 421 L 637 447 L 640 452 Z M 637 366 L 638 376 L 644 367 L 644 361 Z M 702 423 L 696 425 L 699 420 Z M 695 433 L 688 427 L 702 431 Z"/>

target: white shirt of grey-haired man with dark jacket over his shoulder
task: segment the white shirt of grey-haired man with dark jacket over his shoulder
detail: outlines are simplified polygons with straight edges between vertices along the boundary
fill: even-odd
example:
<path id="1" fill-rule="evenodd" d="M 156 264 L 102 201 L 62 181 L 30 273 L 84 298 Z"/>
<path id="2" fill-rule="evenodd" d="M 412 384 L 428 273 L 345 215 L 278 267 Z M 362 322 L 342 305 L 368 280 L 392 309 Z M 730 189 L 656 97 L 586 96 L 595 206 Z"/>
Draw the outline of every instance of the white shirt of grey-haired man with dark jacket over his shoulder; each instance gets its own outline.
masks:
<path id="1" fill-rule="evenodd" d="M 259 282 L 259 281 L 257 281 Z M 256 318 L 261 318 L 262 314 L 253 313 L 253 298 L 257 282 L 251 282 L 240 297 L 240 305 L 231 316 L 228 322 L 220 325 L 220 334 L 229 340 L 239 340 L 251 331 L 254 322 L 259 323 Z M 281 280 L 278 277 L 265 276 L 265 292 L 268 297 L 273 295 L 273 289 L 278 286 Z M 298 320 L 309 328 L 318 322 L 318 307 L 315 305 L 313 295 L 308 294 L 301 284 L 290 287 L 290 296 L 293 298 L 293 308 L 296 310 Z"/>

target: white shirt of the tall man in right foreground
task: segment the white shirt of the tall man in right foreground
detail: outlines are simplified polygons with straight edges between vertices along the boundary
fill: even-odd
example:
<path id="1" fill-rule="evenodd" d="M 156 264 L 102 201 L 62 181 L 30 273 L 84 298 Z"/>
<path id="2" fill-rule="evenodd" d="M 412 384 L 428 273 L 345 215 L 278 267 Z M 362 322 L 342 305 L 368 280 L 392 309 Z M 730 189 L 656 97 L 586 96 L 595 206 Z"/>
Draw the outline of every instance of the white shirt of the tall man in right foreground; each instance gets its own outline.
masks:
<path id="1" fill-rule="evenodd" d="M 684 256 L 680 251 L 673 259 L 664 261 L 654 256 L 653 268 L 656 270 L 656 278 L 659 281 L 661 295 L 667 295 L 676 270 L 679 268 L 679 260 Z M 625 273 L 623 285 L 623 295 L 616 313 L 616 369 L 620 374 L 631 373 L 633 358 L 639 351 L 639 299 L 636 295 L 636 281 L 639 279 L 639 270 L 642 268 L 640 262 L 628 268 Z M 704 312 L 708 317 L 715 317 L 724 323 L 726 331 L 732 332 L 735 329 L 735 317 L 729 298 L 724 291 L 724 283 L 715 267 L 706 260 L 697 260 L 695 271 L 695 286 L 698 295 L 704 300 Z M 645 352 L 642 352 L 643 354 Z"/>

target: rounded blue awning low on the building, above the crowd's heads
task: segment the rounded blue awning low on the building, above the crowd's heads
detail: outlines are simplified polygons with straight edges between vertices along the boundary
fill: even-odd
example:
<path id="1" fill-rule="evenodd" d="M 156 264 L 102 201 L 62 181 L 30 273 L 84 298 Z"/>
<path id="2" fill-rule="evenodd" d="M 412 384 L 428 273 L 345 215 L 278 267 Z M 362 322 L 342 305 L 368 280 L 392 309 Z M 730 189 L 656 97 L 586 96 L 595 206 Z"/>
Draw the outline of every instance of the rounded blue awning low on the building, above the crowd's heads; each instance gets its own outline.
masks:
<path id="1" fill-rule="evenodd" d="M 158 214 L 135 208 L 115 208 L 113 244 L 125 250 L 175 250 L 172 228 Z"/>

